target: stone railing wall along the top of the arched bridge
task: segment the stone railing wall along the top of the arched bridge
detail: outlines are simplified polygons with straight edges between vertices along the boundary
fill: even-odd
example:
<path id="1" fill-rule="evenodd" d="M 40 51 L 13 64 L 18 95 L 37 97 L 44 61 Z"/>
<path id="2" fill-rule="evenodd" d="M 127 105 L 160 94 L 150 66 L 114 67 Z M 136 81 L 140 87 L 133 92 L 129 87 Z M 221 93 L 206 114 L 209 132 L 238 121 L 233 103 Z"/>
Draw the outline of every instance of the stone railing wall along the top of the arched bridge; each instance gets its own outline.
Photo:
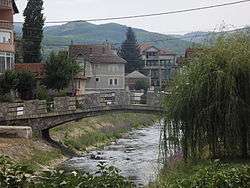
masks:
<path id="1" fill-rule="evenodd" d="M 133 100 L 129 92 L 108 92 L 83 95 L 80 97 L 58 97 L 52 102 L 23 101 L 19 103 L 0 104 L 0 121 L 11 118 L 29 118 L 44 116 L 50 113 L 69 114 L 75 111 L 105 111 L 110 109 L 125 109 L 131 105 L 145 107 L 160 107 L 161 97 L 158 93 L 147 93 L 139 102 Z M 52 114 L 53 115 L 53 114 Z"/>

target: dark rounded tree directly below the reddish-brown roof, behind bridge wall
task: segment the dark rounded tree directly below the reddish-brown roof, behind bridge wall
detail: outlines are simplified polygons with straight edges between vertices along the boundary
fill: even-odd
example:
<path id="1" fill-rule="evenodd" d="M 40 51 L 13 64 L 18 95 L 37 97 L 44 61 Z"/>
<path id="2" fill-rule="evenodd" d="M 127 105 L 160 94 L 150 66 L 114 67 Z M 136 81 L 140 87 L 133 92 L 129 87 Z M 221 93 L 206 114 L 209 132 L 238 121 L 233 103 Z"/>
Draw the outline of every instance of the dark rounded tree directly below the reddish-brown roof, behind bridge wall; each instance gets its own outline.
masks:
<path id="1" fill-rule="evenodd" d="M 36 90 L 36 78 L 31 72 L 19 72 L 17 91 L 23 100 L 31 100 L 34 98 Z"/>

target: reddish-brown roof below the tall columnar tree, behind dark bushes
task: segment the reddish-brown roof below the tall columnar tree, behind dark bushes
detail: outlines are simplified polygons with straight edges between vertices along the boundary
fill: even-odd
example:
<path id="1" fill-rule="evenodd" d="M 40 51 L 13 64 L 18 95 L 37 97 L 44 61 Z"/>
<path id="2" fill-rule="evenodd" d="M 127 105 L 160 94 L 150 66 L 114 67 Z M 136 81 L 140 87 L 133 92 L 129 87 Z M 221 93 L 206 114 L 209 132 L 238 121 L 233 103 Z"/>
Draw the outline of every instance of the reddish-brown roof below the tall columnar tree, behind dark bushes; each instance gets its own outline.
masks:
<path id="1" fill-rule="evenodd" d="M 42 63 L 18 63 L 15 64 L 17 71 L 29 71 L 37 78 L 42 78 L 45 74 L 45 65 Z"/>

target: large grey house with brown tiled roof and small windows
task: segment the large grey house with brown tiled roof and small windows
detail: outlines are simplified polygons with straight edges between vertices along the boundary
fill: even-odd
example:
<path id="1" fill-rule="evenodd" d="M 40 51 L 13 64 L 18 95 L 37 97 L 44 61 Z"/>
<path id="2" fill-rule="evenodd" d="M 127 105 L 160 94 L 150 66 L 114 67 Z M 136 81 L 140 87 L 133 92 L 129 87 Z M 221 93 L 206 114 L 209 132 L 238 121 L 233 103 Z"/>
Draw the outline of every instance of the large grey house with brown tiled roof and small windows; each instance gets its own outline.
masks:
<path id="1" fill-rule="evenodd" d="M 71 45 L 69 55 L 82 67 L 86 92 L 125 89 L 125 64 L 109 44 Z"/>

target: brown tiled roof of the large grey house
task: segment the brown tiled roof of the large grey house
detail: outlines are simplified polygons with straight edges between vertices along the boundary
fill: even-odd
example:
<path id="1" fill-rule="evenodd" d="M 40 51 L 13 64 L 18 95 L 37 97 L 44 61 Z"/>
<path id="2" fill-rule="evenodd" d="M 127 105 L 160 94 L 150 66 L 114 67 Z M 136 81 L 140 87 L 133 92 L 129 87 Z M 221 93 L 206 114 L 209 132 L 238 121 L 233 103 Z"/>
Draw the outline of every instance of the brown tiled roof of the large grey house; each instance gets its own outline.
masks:
<path id="1" fill-rule="evenodd" d="M 119 57 L 110 46 L 101 45 L 71 45 L 69 54 L 72 58 L 83 56 L 90 63 L 125 64 L 124 59 Z"/>

